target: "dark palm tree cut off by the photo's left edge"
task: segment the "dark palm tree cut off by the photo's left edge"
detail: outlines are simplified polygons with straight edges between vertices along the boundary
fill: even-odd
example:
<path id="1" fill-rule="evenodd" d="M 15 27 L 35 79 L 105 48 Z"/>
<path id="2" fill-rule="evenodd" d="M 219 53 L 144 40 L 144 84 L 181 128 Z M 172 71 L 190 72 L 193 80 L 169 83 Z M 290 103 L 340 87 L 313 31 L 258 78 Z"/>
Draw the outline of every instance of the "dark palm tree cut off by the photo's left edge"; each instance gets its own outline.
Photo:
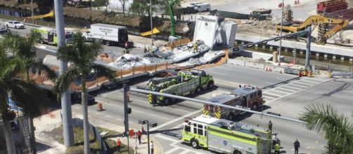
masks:
<path id="1" fill-rule="evenodd" d="M 4 136 L 7 151 L 8 153 L 15 153 L 15 143 L 10 124 L 10 121 L 15 118 L 15 113 L 9 110 L 8 99 L 11 97 L 17 106 L 23 107 L 30 113 L 39 113 L 38 110 L 41 104 L 37 103 L 43 99 L 38 96 L 43 96 L 43 94 L 37 85 L 32 82 L 23 81 L 18 76 L 17 71 L 9 69 L 14 59 L 11 55 L 8 55 L 8 48 L 6 46 L 4 41 L 0 42 L 0 112 L 4 121 Z"/>

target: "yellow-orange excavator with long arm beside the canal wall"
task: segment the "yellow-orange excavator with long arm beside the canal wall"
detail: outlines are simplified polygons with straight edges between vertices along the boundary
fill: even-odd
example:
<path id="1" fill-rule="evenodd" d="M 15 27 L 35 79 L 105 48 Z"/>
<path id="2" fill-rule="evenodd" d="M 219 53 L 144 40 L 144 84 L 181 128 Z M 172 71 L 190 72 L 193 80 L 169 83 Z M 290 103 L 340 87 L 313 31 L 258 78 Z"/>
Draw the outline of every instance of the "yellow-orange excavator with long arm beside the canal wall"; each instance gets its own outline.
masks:
<path id="1" fill-rule="evenodd" d="M 328 28 L 328 25 L 335 25 L 335 27 Z M 319 25 L 317 44 L 324 45 L 326 40 L 336 34 L 338 31 L 344 29 L 349 24 L 349 20 L 342 20 L 336 18 L 328 18 L 323 15 L 312 15 L 300 25 L 294 25 L 292 23 L 284 23 L 282 25 L 282 31 L 284 33 L 295 33 L 302 31 L 310 25 Z M 281 24 L 276 25 L 276 31 L 281 30 Z"/>

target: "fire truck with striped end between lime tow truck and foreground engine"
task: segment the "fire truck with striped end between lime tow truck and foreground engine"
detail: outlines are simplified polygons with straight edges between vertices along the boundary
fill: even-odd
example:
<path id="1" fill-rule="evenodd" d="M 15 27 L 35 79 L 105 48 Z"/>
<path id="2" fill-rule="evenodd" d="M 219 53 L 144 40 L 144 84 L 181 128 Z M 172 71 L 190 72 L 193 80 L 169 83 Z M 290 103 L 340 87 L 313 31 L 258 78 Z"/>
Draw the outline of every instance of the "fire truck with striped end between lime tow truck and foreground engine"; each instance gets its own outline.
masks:
<path id="1" fill-rule="evenodd" d="M 259 106 L 264 104 L 262 99 L 262 90 L 258 87 L 245 85 L 233 90 L 230 94 L 218 94 L 207 100 L 217 104 L 225 104 L 229 106 L 237 106 L 245 109 L 256 111 Z M 220 106 L 203 105 L 203 114 L 214 118 L 223 118 L 233 120 L 236 115 L 241 114 L 238 110 L 224 108 Z"/>

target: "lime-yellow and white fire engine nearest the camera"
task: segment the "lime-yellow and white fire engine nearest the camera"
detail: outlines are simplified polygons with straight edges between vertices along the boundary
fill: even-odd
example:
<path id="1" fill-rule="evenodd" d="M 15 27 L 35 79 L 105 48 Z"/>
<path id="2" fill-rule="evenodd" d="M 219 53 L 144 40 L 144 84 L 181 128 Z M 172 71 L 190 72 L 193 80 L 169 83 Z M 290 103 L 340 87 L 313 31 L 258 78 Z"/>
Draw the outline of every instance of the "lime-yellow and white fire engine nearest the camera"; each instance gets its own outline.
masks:
<path id="1" fill-rule="evenodd" d="M 193 148 L 208 148 L 218 153 L 271 152 L 270 130 L 210 116 L 186 120 L 181 132 L 181 141 L 191 144 Z"/>

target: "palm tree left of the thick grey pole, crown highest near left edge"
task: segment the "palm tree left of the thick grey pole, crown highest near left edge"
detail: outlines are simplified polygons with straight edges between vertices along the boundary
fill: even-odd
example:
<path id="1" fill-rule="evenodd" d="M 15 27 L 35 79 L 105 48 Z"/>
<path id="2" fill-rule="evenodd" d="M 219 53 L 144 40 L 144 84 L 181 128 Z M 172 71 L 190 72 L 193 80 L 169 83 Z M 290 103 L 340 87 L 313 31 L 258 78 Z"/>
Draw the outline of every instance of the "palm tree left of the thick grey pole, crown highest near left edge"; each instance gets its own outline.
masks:
<path id="1" fill-rule="evenodd" d="M 22 73 L 25 75 L 25 79 L 30 81 L 30 70 L 39 69 L 45 71 L 47 76 L 51 79 L 56 77 L 56 73 L 54 73 L 48 66 L 44 65 L 41 59 L 36 57 L 37 48 L 34 46 L 34 43 L 39 41 L 39 38 L 40 34 L 34 31 L 31 31 L 30 35 L 27 37 L 19 36 L 18 34 L 9 34 L 5 41 L 5 46 L 13 54 L 13 58 L 5 69 L 7 73 Z M 37 102 L 34 102 L 34 100 Z M 31 153 L 36 153 L 33 118 L 40 116 L 40 109 L 37 107 L 46 102 L 44 102 L 44 99 L 23 99 L 18 103 L 22 103 L 23 109 L 25 109 L 25 114 L 28 118 L 30 151 Z M 37 106 L 34 104 L 37 104 Z"/>

